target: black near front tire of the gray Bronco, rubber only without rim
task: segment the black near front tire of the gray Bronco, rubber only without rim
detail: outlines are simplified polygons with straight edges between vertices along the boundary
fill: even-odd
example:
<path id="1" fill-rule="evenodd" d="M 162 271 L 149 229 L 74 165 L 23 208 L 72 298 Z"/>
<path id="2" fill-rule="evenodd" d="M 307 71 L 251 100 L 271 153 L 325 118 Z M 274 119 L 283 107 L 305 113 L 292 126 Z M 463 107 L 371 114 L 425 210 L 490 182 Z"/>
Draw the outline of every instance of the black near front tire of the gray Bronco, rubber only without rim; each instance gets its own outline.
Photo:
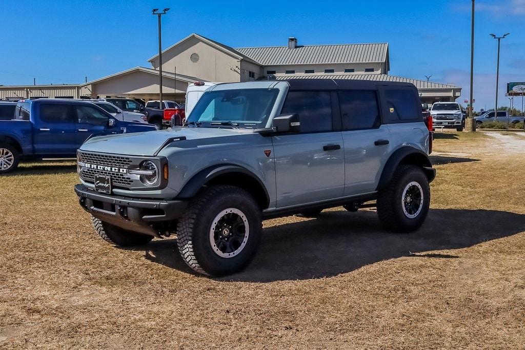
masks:
<path id="1" fill-rule="evenodd" d="M 246 218 L 249 234 L 243 249 L 233 257 L 222 257 L 214 251 L 210 231 L 214 219 L 228 208 L 240 210 Z M 177 245 L 182 259 L 198 273 L 219 277 L 244 269 L 254 257 L 260 242 L 262 211 L 255 199 L 236 186 L 205 187 L 192 199 L 178 220 Z"/>

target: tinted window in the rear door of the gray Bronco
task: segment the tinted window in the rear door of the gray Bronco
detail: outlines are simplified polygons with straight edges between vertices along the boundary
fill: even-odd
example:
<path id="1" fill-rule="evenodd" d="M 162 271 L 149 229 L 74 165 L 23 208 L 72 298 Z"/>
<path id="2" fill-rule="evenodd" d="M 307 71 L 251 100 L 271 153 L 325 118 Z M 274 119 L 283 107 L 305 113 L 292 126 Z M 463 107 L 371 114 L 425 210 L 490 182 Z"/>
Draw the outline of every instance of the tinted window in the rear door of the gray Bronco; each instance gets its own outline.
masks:
<path id="1" fill-rule="evenodd" d="M 339 91 L 339 103 L 343 129 L 372 129 L 379 126 L 379 107 L 375 91 Z"/>

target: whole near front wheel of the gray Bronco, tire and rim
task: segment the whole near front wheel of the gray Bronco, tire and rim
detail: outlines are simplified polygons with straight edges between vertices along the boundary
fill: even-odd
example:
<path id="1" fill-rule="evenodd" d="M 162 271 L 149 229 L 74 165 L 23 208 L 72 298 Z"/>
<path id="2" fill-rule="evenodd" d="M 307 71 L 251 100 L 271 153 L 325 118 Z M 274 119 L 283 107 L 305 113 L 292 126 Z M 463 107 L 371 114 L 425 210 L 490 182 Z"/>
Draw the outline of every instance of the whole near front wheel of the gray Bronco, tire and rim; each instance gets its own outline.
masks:
<path id="1" fill-rule="evenodd" d="M 204 188 L 178 220 L 177 245 L 186 264 L 210 276 L 244 269 L 259 246 L 261 210 L 245 190 Z"/>

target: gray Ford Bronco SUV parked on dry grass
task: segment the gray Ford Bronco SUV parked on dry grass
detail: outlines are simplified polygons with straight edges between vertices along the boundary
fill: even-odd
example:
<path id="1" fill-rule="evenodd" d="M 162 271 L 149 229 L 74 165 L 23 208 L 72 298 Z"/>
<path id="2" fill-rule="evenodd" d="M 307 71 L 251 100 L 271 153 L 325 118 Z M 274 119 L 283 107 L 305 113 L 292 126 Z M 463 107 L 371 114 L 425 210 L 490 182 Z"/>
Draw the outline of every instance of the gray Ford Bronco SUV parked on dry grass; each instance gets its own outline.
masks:
<path id="1" fill-rule="evenodd" d="M 175 234 L 188 266 L 225 275 L 253 258 L 267 218 L 373 206 L 388 230 L 419 228 L 431 140 L 412 84 L 223 83 L 182 128 L 86 141 L 75 191 L 104 240 Z"/>

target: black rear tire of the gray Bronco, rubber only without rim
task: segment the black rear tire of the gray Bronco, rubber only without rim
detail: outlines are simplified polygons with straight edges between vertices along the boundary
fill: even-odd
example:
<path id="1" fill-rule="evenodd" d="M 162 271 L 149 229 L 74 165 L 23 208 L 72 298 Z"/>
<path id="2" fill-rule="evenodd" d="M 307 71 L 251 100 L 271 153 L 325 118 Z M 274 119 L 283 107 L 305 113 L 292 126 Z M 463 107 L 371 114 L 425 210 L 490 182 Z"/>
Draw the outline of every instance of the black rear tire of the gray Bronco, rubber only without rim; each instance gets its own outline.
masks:
<path id="1" fill-rule="evenodd" d="M 421 210 L 409 218 L 403 210 L 403 192 L 408 184 L 416 182 L 421 186 L 423 203 Z M 417 188 L 416 188 L 417 190 Z M 397 167 L 388 185 L 377 197 L 377 215 L 384 228 L 394 232 L 411 232 L 417 230 L 428 214 L 430 206 L 430 186 L 423 169 L 415 165 L 400 165 Z"/>

